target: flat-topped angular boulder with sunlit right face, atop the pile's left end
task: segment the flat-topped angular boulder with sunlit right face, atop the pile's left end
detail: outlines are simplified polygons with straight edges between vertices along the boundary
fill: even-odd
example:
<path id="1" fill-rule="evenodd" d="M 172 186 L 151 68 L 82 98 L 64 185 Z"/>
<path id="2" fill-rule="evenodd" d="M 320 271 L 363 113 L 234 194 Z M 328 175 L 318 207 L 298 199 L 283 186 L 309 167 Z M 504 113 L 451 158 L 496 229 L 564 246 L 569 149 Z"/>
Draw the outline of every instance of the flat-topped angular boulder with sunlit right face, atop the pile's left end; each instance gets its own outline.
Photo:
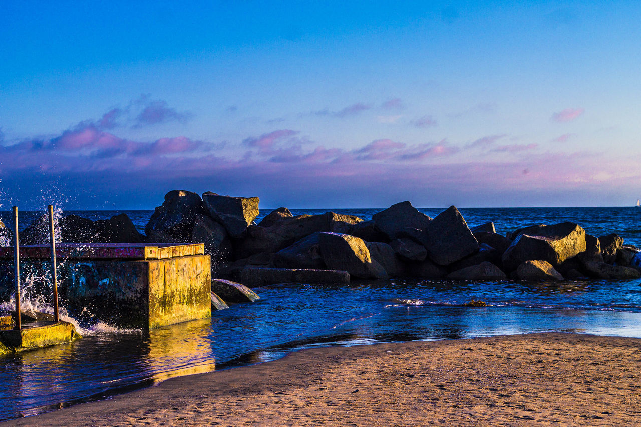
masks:
<path id="1" fill-rule="evenodd" d="M 258 216 L 258 197 L 221 196 L 208 191 L 203 203 L 212 218 L 220 222 L 231 237 L 238 237 Z"/>

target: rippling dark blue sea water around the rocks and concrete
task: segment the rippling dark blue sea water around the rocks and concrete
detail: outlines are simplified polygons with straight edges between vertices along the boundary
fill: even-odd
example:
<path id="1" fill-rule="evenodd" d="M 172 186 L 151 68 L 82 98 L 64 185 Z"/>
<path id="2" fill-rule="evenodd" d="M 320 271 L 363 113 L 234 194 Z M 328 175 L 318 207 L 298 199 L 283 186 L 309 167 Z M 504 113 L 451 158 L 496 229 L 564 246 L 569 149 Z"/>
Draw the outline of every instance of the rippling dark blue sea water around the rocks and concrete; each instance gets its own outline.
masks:
<path id="1" fill-rule="evenodd" d="M 379 210 L 292 213 L 331 211 L 367 220 Z M 435 217 L 444 208 L 419 210 Z M 141 232 L 153 213 L 63 213 L 96 220 L 123 212 Z M 261 210 L 258 221 L 269 212 Z M 470 227 L 493 221 L 501 234 L 531 224 L 571 221 L 588 234 L 617 233 L 626 244 L 641 247 L 641 209 L 636 206 L 460 212 Z M 42 213 L 21 212 L 19 228 Z M 10 212 L 0 212 L 0 219 L 10 224 Z M 288 283 L 254 291 L 260 296 L 255 303 L 230 305 L 213 312 L 211 319 L 151 331 L 79 324 L 83 339 L 76 342 L 0 356 L 0 421 L 109 399 L 174 376 L 269 362 L 314 347 L 549 331 L 641 338 L 641 280 L 360 280 L 349 285 Z M 35 308 L 50 310 L 38 296 L 29 298 Z M 485 301 L 487 307 L 465 306 L 470 301 Z"/>

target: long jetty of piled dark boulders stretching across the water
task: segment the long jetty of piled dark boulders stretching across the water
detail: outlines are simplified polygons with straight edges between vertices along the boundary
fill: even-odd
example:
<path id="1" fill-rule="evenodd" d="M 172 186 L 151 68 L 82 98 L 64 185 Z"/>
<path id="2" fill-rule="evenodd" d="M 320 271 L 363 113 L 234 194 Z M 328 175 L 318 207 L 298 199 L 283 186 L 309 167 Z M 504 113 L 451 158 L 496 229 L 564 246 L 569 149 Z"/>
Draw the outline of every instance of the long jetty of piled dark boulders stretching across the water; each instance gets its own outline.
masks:
<path id="1" fill-rule="evenodd" d="M 248 286 L 351 279 L 566 280 L 641 277 L 641 254 L 617 234 L 588 235 L 573 222 L 533 224 L 506 235 L 494 222 L 470 227 L 455 206 L 435 218 L 396 203 L 363 221 L 326 212 L 294 216 L 281 207 L 258 224 L 258 197 L 202 196 L 173 190 L 138 233 L 127 215 L 60 220 L 73 242 L 204 243 L 212 277 Z M 2 228 L 0 226 L 0 228 Z M 24 244 L 46 236 L 46 221 L 23 233 Z"/>

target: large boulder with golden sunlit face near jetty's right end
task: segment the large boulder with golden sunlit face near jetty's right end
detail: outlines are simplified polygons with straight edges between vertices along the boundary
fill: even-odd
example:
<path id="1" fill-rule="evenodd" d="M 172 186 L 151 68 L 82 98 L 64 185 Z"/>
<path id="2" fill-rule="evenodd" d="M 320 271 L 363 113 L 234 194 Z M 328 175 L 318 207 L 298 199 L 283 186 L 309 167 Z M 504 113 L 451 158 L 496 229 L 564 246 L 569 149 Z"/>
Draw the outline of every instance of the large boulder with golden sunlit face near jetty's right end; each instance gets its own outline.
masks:
<path id="1" fill-rule="evenodd" d="M 525 261 L 544 260 L 556 267 L 585 251 L 585 230 L 574 222 L 530 228 L 520 234 L 503 254 L 503 266 L 514 271 Z"/>

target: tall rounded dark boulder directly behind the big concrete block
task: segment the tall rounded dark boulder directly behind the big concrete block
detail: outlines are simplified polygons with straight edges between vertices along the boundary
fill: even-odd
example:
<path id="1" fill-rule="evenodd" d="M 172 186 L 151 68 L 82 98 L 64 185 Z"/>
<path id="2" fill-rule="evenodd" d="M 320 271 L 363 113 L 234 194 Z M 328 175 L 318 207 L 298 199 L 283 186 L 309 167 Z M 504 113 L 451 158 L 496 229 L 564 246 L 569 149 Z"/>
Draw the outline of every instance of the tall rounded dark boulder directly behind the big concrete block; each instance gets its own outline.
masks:
<path id="1" fill-rule="evenodd" d="M 208 215 L 198 194 L 186 190 L 168 192 L 145 226 L 147 241 L 189 242 L 197 215 Z"/>

